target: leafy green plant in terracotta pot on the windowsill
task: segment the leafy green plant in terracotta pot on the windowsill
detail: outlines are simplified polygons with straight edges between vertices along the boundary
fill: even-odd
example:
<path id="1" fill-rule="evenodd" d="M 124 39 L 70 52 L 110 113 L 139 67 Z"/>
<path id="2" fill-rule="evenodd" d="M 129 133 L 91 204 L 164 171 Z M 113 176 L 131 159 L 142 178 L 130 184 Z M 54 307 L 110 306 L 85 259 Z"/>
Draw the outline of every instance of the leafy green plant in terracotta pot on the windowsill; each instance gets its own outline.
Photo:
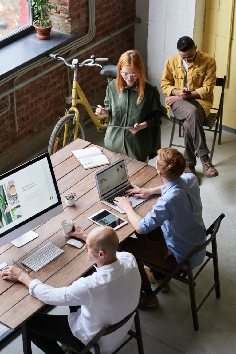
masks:
<path id="1" fill-rule="evenodd" d="M 50 20 L 52 9 L 57 9 L 57 4 L 50 0 L 27 0 L 33 8 L 35 21 L 33 26 L 39 39 L 50 38 L 53 22 Z"/>

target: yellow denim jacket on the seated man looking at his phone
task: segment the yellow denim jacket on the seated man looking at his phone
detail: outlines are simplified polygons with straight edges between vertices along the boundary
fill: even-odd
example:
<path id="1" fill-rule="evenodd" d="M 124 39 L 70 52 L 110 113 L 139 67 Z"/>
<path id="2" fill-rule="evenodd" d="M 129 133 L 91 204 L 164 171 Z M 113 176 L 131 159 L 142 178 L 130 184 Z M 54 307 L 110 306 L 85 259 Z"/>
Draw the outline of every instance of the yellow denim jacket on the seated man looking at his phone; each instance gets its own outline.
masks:
<path id="1" fill-rule="evenodd" d="M 205 110 L 206 116 L 209 115 L 213 104 L 213 89 L 216 83 L 216 63 L 215 59 L 207 53 L 197 51 L 194 61 L 188 68 L 189 90 L 196 90 L 201 98 L 197 98 Z M 186 71 L 183 67 L 180 55 L 176 54 L 167 59 L 161 77 L 161 90 L 166 96 L 171 96 L 174 89 L 180 90 L 184 87 Z M 170 113 L 169 106 L 168 115 Z"/>

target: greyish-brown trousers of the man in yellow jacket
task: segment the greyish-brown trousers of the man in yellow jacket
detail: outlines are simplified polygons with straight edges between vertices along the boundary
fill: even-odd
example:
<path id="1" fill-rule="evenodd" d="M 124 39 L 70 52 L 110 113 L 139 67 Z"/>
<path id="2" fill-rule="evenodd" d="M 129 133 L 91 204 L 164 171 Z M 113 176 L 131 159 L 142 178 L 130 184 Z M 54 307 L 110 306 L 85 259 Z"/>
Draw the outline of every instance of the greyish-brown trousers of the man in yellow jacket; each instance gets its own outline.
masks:
<path id="1" fill-rule="evenodd" d="M 200 158 L 209 154 L 202 125 L 206 118 L 205 110 L 194 98 L 179 99 L 172 104 L 171 110 L 175 118 L 184 121 L 184 157 L 187 166 L 195 166 L 196 156 Z"/>

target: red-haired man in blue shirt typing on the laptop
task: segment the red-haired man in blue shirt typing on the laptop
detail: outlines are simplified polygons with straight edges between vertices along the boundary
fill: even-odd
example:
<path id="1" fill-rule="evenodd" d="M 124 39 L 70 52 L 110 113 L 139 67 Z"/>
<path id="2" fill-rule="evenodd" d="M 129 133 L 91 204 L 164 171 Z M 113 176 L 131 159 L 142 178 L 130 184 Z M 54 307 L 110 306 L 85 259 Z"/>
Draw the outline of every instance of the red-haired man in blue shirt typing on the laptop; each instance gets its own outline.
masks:
<path id="1" fill-rule="evenodd" d="M 142 278 L 141 290 L 145 291 L 147 296 L 152 291 L 150 281 L 158 286 L 165 276 L 152 272 L 149 268 L 144 269 L 141 260 L 171 271 L 195 245 L 206 240 L 200 188 L 196 176 L 192 173 L 181 176 L 186 168 L 186 161 L 178 150 L 162 148 L 157 153 L 157 173 L 164 184 L 127 191 L 128 195 L 134 193 L 134 196 L 139 198 L 161 194 L 152 210 L 141 218 L 133 210 L 128 196 L 115 198 L 116 204 L 126 212 L 138 237 L 128 238 L 120 245 L 120 249 L 136 257 Z M 191 258 L 192 267 L 201 264 L 204 257 L 205 250 L 196 253 Z M 169 285 L 162 290 L 167 292 Z M 146 307 L 157 306 L 158 300 L 154 297 Z"/>

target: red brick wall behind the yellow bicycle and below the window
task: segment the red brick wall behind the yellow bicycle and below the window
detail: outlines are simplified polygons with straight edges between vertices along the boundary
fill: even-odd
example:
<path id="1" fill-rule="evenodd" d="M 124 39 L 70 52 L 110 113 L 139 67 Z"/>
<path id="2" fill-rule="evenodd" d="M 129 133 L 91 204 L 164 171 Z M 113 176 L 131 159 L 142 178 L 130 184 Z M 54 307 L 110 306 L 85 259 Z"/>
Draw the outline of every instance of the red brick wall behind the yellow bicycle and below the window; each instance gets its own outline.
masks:
<path id="1" fill-rule="evenodd" d="M 60 1 L 60 3 L 63 4 L 59 6 L 60 13 L 55 16 L 63 14 L 61 19 L 63 18 L 64 21 L 58 21 L 57 29 L 61 30 L 62 27 L 66 27 L 66 31 L 70 33 L 75 33 L 79 29 L 81 35 L 84 35 L 88 30 L 88 1 L 64 0 Z M 135 0 L 96 0 L 95 7 L 96 35 L 92 42 L 96 42 L 110 32 L 134 21 L 135 18 Z M 133 48 L 133 41 L 134 28 L 131 28 L 84 53 L 78 58 L 79 62 L 94 54 L 97 57 L 108 57 L 109 63 L 116 64 L 122 52 Z M 67 58 L 68 55 L 63 54 L 63 57 Z M 38 74 L 53 64 L 53 62 L 50 62 L 44 67 L 35 68 L 21 76 L 16 84 L 31 78 L 32 75 Z M 11 108 L 6 114 L 0 116 L 1 173 L 30 158 L 34 149 L 34 142 L 38 141 L 37 138 L 50 136 L 52 127 L 58 117 L 64 115 L 64 104 L 60 88 L 61 76 L 64 95 L 68 96 L 69 92 L 67 91 L 65 70 L 63 72 L 63 69 L 64 66 L 62 65 L 59 69 L 51 71 L 48 75 L 42 76 L 32 84 L 24 86 L 16 92 L 18 132 L 15 130 L 13 104 L 11 104 Z M 103 103 L 100 101 L 100 97 L 103 98 L 105 95 L 106 79 L 105 76 L 100 75 L 100 69 L 98 67 L 84 67 L 81 69 L 81 73 L 83 77 L 82 90 L 86 93 L 88 101 L 91 104 Z M 0 87 L 0 92 L 4 92 L 11 87 L 12 81 L 7 82 L 7 84 Z M 99 102 L 97 102 L 96 97 L 99 97 Z M 11 95 L 12 102 L 13 96 Z M 0 112 L 5 110 L 6 107 L 7 99 L 1 100 Z M 22 156 L 21 152 L 23 145 L 25 146 L 24 156 Z M 37 149 L 40 150 L 40 147 L 37 147 Z M 6 161 L 6 158 L 4 160 L 3 157 L 7 156 L 6 153 L 8 151 L 11 153 Z"/>

